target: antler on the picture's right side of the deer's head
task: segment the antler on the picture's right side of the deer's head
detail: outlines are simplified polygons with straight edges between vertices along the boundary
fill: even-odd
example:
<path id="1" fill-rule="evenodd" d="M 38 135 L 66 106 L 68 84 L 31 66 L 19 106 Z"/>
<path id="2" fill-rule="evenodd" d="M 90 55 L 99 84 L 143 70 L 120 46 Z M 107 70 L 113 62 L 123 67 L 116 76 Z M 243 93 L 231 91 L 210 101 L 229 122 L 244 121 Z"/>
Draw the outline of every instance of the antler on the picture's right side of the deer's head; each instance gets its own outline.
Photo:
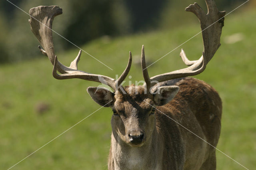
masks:
<path id="1" fill-rule="evenodd" d="M 220 47 L 220 35 L 222 27 L 224 26 L 224 16 L 226 12 L 218 12 L 214 0 L 205 1 L 208 8 L 207 14 L 204 13 L 202 8 L 197 3 L 194 3 L 186 8 L 186 11 L 193 12 L 198 17 L 201 25 L 204 44 L 204 51 L 202 52 L 203 54 L 200 59 L 196 61 L 188 60 L 184 50 L 181 50 L 180 57 L 182 58 L 183 62 L 190 67 L 156 75 L 154 77 L 150 77 L 150 79 L 148 80 L 147 77 L 149 76 L 146 68 L 144 47 L 142 46 L 142 72 L 145 79 L 144 86 L 146 86 L 148 90 L 150 89 L 150 87 L 156 84 L 155 82 L 162 82 L 186 76 L 198 75 L 202 73 L 202 71 L 204 71 L 204 69 L 206 68 L 207 63 L 210 61 L 210 59 L 212 59 L 214 53 L 217 51 L 218 47 Z"/>

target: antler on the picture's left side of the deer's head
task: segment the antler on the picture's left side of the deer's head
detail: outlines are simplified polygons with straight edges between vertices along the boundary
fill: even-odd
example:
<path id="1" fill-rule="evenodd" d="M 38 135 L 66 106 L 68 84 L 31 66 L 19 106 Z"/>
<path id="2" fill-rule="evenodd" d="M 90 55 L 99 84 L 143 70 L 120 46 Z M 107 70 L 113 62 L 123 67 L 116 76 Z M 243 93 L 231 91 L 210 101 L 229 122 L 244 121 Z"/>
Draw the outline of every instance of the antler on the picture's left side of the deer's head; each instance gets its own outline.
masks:
<path id="1" fill-rule="evenodd" d="M 125 77 L 128 75 L 130 71 L 130 67 L 132 64 L 132 53 L 129 53 L 129 61 L 126 69 L 122 73 L 122 75 L 118 78 L 118 80 L 112 79 L 111 77 L 107 77 L 104 75 L 91 74 L 84 71 L 78 70 L 77 64 L 80 60 L 81 50 L 79 51 L 76 59 L 72 61 L 70 67 L 66 67 L 62 63 L 60 63 L 57 59 L 57 56 L 54 53 L 54 45 L 52 41 L 52 22 L 55 16 L 62 14 L 62 9 L 58 6 L 38 6 L 36 8 L 32 8 L 29 11 L 30 14 L 30 27 L 43 49 L 39 46 L 40 51 L 48 56 L 51 63 L 54 65 L 52 75 L 56 79 L 72 79 L 79 78 L 89 81 L 96 81 L 99 83 L 104 83 L 110 86 L 114 91 L 121 90 L 119 86 L 122 81 L 124 81 Z M 59 71 L 62 74 L 58 74 Z M 122 86 L 120 86 L 122 87 Z"/>

